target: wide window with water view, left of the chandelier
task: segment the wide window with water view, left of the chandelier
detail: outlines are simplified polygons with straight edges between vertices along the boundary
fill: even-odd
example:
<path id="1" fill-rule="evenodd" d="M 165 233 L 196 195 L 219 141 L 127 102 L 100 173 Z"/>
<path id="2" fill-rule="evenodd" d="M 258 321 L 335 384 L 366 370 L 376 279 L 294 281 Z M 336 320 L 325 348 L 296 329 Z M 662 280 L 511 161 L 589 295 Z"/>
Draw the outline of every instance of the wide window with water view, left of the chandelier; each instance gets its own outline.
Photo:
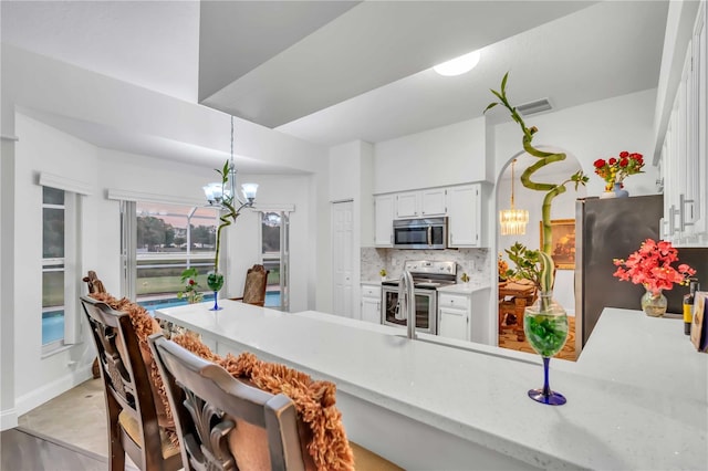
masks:
<path id="1" fill-rule="evenodd" d="M 206 280 L 214 268 L 218 210 L 142 201 L 125 206 L 124 283 L 129 286 L 125 294 L 150 311 L 184 304 L 186 301 L 177 300 L 184 287 L 180 275 L 185 269 L 196 268 L 205 300 L 212 295 Z M 128 243 L 131 227 L 135 228 L 134 249 Z"/>

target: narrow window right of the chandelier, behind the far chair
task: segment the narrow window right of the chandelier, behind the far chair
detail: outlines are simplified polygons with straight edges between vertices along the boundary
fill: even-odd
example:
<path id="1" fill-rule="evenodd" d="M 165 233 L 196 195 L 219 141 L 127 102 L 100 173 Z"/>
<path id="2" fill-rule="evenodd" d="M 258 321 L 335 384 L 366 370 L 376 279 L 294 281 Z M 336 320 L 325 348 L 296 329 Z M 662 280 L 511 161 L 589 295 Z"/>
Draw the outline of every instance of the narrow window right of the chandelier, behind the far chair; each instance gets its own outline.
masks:
<path id="1" fill-rule="evenodd" d="M 288 230 L 289 217 L 284 211 L 261 212 L 261 263 L 268 274 L 266 306 L 288 311 Z"/>

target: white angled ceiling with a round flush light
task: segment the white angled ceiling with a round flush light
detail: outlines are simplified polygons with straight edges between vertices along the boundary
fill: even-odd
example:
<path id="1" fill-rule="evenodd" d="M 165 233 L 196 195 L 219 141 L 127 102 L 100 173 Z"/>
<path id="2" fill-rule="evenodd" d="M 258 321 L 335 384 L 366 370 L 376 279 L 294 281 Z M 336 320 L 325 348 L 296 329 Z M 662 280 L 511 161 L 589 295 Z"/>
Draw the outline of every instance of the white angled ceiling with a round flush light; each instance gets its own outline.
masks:
<path id="1" fill-rule="evenodd" d="M 507 71 L 512 103 L 548 97 L 555 109 L 656 87 L 667 8 L 665 1 L 3 0 L 1 14 L 3 42 L 336 145 L 481 116 L 489 88 Z M 429 69 L 476 49 L 482 59 L 468 74 L 442 77 Z M 506 118 L 499 107 L 490 115 Z M 82 135 L 80 127 L 72 124 L 72 133 Z M 144 146 L 145 136 L 93 134 L 101 134 L 97 145 Z M 90 124 L 83 135 L 92 135 Z M 160 153 L 150 142 L 144 151 L 178 154 L 170 146 Z"/>

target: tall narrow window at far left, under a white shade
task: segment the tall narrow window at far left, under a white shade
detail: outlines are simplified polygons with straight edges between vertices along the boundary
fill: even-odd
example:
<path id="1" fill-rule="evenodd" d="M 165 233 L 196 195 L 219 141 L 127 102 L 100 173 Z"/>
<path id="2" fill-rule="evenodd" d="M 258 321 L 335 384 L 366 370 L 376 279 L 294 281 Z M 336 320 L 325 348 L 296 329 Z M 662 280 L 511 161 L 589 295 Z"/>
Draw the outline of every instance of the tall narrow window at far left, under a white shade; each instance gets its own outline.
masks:
<path id="1" fill-rule="evenodd" d="M 42 353 L 80 338 L 77 193 L 42 187 Z"/>

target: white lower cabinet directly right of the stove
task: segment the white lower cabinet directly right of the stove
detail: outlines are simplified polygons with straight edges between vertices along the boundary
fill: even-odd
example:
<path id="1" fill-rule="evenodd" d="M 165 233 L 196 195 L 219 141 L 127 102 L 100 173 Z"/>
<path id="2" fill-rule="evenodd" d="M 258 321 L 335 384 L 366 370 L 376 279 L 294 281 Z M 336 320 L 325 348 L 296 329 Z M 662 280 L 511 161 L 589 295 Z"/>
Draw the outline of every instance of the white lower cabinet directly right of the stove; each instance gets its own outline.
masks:
<path id="1" fill-rule="evenodd" d="M 454 293 L 438 291 L 438 335 L 460 341 L 490 344 L 489 287 Z M 472 312 L 472 306 L 475 311 Z"/>

